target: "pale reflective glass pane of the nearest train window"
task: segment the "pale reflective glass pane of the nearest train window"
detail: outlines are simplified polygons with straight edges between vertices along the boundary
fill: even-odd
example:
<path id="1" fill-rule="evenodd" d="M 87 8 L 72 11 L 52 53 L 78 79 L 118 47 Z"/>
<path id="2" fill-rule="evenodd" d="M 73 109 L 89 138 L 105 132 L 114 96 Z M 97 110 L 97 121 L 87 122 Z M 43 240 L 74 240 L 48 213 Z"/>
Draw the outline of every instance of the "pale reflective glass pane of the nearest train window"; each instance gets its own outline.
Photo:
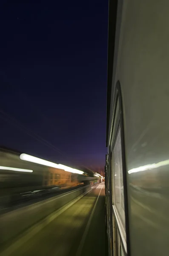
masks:
<path id="1" fill-rule="evenodd" d="M 122 149 L 120 129 L 117 133 L 117 139 L 113 149 L 113 175 L 114 175 L 114 204 L 120 215 L 120 219 L 125 228 L 125 212 L 124 212 L 124 188 L 123 188 L 123 168 L 122 168 Z"/>

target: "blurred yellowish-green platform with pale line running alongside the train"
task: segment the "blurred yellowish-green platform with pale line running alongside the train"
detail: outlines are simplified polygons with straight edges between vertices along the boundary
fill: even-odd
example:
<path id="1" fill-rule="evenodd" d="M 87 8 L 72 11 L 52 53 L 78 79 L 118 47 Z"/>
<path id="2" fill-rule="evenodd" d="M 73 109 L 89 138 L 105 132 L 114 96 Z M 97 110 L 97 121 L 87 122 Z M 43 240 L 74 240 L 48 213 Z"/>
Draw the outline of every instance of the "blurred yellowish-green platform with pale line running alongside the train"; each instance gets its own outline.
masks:
<path id="1" fill-rule="evenodd" d="M 100 183 L 8 255 L 107 255 L 104 211 L 105 189 Z"/>

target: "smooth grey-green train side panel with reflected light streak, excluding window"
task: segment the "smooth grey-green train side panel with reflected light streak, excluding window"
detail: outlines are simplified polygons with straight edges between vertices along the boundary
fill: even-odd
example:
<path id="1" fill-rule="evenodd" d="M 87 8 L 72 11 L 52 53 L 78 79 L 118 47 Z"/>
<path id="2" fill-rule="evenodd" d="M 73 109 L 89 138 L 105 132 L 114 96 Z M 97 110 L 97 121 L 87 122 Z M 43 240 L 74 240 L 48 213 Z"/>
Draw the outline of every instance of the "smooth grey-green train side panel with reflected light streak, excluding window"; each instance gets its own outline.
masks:
<path id="1" fill-rule="evenodd" d="M 123 111 L 123 172 L 126 172 L 126 190 L 120 186 L 119 191 L 127 195 L 127 253 L 166 255 L 169 251 L 169 2 L 124 0 L 118 1 L 118 5 L 120 26 L 116 23 L 108 152 L 115 163 L 115 144 L 111 140 L 117 142 L 113 129 L 118 84 Z M 117 187 L 115 167 L 111 175 Z"/>

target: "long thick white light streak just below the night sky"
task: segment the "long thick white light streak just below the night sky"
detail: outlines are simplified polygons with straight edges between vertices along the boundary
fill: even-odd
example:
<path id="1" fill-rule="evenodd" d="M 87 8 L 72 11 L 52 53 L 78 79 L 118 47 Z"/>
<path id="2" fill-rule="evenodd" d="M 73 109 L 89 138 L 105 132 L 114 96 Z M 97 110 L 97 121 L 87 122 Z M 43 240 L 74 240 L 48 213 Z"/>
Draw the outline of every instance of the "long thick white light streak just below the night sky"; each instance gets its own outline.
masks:
<path id="1" fill-rule="evenodd" d="M 52 163 L 52 162 L 49 162 L 47 160 L 43 160 L 43 159 L 38 158 L 38 157 L 33 157 L 31 155 L 24 154 L 24 153 L 20 155 L 20 159 L 25 160 L 25 161 L 29 161 L 29 162 L 32 162 L 32 163 L 38 163 L 38 164 L 41 164 L 41 165 L 44 165 L 44 166 L 49 166 L 49 167 L 53 167 L 53 168 L 57 168 L 57 169 L 62 169 L 62 170 L 65 170 L 66 172 L 83 174 L 83 171 L 73 169 L 69 166 L 64 166 L 63 164 Z"/>

